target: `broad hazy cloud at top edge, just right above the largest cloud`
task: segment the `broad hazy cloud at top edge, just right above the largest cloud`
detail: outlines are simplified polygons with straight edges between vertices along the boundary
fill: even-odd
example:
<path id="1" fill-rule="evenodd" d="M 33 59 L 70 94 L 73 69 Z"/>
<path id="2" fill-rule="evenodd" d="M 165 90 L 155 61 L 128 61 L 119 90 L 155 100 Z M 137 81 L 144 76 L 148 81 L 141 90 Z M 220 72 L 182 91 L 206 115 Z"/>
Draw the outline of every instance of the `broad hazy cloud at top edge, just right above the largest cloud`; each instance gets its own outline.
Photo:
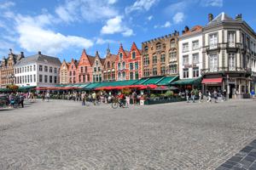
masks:
<path id="1" fill-rule="evenodd" d="M 55 8 L 61 20 L 69 23 L 79 20 L 90 22 L 109 19 L 118 14 L 113 8 L 117 0 L 66 0 L 64 5 Z"/>

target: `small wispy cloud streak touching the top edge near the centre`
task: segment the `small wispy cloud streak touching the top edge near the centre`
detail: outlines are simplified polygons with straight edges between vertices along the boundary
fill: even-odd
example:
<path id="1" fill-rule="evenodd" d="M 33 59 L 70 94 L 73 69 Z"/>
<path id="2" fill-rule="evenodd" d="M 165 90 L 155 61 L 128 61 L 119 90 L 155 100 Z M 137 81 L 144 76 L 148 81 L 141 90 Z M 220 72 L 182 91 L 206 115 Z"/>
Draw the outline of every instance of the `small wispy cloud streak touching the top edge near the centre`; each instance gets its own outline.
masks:
<path id="1" fill-rule="evenodd" d="M 129 14 L 133 11 L 148 11 L 154 4 L 158 3 L 159 0 L 136 0 L 130 7 L 125 8 L 125 13 Z"/>

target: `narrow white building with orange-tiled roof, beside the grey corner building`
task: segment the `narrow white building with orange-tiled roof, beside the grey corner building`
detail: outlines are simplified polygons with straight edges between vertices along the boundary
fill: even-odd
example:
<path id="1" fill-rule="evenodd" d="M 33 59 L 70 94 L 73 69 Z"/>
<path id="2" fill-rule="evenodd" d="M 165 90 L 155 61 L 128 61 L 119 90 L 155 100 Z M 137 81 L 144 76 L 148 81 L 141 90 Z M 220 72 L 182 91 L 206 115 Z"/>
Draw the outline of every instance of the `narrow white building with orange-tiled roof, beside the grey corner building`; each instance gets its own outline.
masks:
<path id="1" fill-rule="evenodd" d="M 196 79 L 202 69 L 202 27 L 183 31 L 179 37 L 179 78 Z"/>

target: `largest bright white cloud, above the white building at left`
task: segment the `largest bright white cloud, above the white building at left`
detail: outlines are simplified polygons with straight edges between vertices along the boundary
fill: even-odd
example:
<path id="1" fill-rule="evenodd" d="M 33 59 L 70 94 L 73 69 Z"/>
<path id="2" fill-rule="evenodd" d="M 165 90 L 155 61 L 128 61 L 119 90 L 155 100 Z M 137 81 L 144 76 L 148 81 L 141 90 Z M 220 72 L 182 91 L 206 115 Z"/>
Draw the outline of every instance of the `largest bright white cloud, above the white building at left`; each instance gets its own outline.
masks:
<path id="1" fill-rule="evenodd" d="M 44 51 L 46 54 L 57 54 L 67 48 L 90 48 L 93 42 L 84 37 L 65 36 L 45 27 L 51 25 L 51 15 L 36 17 L 19 16 L 16 19 L 18 43 L 28 52 Z"/>

